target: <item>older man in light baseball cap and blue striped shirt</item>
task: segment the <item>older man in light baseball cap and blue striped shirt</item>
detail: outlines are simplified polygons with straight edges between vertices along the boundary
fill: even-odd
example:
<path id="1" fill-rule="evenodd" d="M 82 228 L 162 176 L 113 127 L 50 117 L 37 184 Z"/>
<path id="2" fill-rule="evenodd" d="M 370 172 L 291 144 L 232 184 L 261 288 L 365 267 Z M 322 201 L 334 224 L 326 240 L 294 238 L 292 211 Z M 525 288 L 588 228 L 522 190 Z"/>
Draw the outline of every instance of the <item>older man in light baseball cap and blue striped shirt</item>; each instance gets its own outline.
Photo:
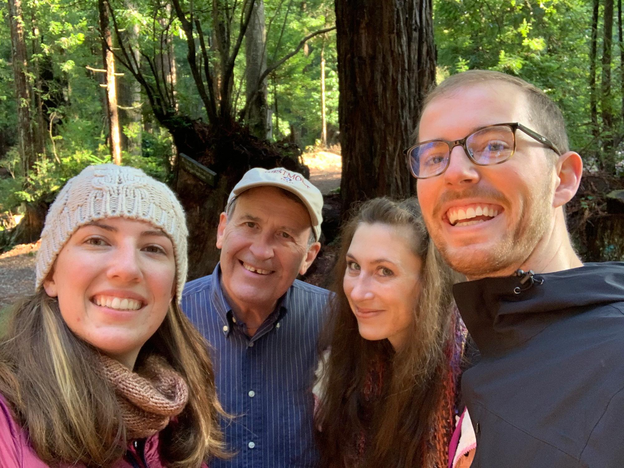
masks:
<path id="1" fill-rule="evenodd" d="M 296 276 L 321 246 L 321 208 L 300 173 L 249 170 L 221 213 L 220 263 L 185 287 L 182 308 L 215 348 L 219 397 L 234 416 L 223 430 L 235 455 L 211 468 L 318 464 L 311 386 L 328 291 Z"/>

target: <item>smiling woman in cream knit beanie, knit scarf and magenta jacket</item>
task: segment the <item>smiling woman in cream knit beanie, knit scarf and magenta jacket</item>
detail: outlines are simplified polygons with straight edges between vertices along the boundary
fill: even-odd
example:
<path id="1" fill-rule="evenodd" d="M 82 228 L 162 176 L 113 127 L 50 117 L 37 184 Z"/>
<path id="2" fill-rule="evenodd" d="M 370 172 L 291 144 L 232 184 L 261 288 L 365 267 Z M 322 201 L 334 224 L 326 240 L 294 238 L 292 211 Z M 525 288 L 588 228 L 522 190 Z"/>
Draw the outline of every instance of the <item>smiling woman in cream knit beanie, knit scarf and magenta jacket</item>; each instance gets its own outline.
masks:
<path id="1" fill-rule="evenodd" d="M 139 169 L 52 203 L 36 292 L 0 341 L 0 466 L 200 467 L 224 456 L 207 344 L 180 311 L 185 215 Z"/>

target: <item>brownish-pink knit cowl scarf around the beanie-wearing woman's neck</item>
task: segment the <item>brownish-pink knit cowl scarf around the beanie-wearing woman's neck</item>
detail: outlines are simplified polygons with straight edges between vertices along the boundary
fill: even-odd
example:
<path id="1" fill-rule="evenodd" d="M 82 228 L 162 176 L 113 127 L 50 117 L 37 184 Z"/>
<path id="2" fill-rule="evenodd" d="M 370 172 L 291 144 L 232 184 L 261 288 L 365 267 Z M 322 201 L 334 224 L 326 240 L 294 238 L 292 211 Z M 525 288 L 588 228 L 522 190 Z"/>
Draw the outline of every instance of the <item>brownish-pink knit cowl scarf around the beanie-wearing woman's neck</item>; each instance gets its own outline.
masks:
<path id="1" fill-rule="evenodd" d="M 182 376 L 160 356 L 149 356 L 136 371 L 100 354 L 105 378 L 115 388 L 128 439 L 162 431 L 188 401 Z"/>

